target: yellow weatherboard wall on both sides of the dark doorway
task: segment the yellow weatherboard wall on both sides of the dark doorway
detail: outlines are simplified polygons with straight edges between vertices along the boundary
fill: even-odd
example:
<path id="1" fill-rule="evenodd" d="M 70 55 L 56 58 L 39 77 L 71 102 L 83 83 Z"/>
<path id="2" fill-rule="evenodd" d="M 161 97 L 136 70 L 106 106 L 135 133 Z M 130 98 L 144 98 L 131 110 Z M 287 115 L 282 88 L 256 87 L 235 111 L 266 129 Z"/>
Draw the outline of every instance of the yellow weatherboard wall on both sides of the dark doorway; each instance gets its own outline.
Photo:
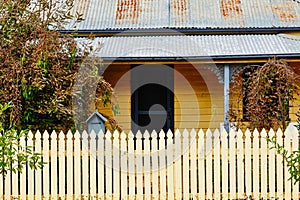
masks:
<path id="1" fill-rule="evenodd" d="M 219 128 L 223 121 L 223 84 L 215 73 L 203 65 L 176 64 L 174 69 L 175 129 Z M 127 132 L 131 129 L 130 65 L 112 64 L 103 75 L 115 90 L 120 114 L 114 116 L 110 107 L 102 107 L 100 112 L 114 118 Z"/>

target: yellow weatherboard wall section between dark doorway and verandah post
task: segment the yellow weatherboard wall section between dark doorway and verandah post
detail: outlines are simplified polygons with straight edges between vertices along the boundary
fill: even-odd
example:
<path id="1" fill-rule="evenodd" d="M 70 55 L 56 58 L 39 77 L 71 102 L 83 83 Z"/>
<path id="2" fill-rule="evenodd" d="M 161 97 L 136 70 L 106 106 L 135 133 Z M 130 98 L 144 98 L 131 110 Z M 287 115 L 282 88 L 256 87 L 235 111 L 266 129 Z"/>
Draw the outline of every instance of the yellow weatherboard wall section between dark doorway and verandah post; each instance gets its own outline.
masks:
<path id="1" fill-rule="evenodd" d="M 223 84 L 203 65 L 174 66 L 175 128 L 220 128 Z"/>

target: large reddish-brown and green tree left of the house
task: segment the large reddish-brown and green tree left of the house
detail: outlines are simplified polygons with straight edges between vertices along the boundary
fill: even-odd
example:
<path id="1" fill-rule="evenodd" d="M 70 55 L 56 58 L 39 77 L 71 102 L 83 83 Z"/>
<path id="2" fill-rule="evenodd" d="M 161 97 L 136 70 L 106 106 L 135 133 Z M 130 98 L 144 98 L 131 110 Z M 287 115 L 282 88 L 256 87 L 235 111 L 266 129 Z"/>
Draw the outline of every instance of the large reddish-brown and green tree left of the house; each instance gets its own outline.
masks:
<path id="1" fill-rule="evenodd" d="M 56 30 L 83 20 L 72 13 L 74 0 L 2 0 L 0 5 L 0 103 L 11 102 L 8 124 L 18 130 L 74 127 L 72 88 L 91 45 L 76 32 Z M 112 88 L 97 77 L 98 99 L 110 101 Z"/>

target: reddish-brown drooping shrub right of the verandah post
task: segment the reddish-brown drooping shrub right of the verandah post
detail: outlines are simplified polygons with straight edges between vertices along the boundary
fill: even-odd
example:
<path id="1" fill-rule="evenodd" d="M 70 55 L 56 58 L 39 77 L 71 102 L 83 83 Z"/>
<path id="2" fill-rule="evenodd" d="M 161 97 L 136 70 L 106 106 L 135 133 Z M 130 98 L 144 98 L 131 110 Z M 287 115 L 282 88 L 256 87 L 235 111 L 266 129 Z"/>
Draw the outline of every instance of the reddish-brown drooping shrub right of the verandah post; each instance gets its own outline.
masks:
<path id="1" fill-rule="evenodd" d="M 283 60 L 270 60 L 263 66 L 247 66 L 233 76 L 230 95 L 230 121 L 238 126 L 248 122 L 251 129 L 285 129 L 289 105 L 298 85 L 293 69 Z M 244 109 L 245 108 L 245 109 Z"/>

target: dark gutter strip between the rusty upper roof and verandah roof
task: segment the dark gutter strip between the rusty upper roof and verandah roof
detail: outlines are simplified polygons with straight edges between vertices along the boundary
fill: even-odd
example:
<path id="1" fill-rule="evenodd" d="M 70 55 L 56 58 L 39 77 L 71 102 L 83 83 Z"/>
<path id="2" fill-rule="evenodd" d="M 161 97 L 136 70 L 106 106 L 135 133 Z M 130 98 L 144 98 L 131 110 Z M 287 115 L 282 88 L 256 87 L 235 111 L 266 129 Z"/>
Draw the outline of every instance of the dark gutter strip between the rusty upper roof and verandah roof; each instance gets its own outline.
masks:
<path id="1" fill-rule="evenodd" d="M 86 29 L 86 30 L 58 30 L 62 34 L 77 33 L 78 36 L 155 36 L 155 35 L 219 35 L 219 34 L 279 34 L 286 32 L 300 32 L 300 27 L 287 27 L 287 28 L 152 28 L 152 29 Z"/>

